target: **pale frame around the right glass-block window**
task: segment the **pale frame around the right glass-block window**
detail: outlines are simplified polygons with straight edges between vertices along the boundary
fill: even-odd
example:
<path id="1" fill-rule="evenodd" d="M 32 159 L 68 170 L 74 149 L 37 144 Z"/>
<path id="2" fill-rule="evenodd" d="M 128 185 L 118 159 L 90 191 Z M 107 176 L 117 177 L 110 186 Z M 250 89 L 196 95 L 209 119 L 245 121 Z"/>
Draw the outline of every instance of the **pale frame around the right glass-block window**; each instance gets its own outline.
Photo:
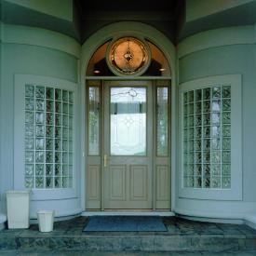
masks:
<path id="1" fill-rule="evenodd" d="M 241 74 L 208 76 L 182 83 L 179 88 L 179 197 L 242 200 L 242 93 Z M 231 86 L 231 188 L 189 188 L 183 187 L 183 99 L 185 91 Z"/>

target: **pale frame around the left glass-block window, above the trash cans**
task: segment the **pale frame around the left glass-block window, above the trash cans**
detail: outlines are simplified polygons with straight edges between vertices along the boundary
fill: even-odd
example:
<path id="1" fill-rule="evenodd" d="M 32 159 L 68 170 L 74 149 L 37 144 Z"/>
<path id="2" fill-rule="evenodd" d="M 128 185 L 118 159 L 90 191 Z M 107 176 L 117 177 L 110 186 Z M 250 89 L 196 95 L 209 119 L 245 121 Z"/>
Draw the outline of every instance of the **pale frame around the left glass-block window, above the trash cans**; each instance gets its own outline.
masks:
<path id="1" fill-rule="evenodd" d="M 25 187 L 25 85 L 38 85 L 47 88 L 61 88 L 74 92 L 74 124 L 77 120 L 76 84 L 55 77 L 34 74 L 14 75 L 14 189 L 28 190 Z M 32 200 L 54 200 L 74 198 L 77 191 L 77 171 L 75 157 L 75 126 L 73 130 L 73 187 L 72 188 L 43 188 L 31 189 Z"/>

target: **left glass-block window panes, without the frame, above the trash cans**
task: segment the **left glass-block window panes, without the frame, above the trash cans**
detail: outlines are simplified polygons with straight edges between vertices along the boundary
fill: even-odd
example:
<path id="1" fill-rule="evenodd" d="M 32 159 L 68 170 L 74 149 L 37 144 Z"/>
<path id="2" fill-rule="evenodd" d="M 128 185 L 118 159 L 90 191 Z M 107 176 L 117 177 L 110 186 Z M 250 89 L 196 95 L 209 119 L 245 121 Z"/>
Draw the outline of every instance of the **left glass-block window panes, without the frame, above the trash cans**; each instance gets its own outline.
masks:
<path id="1" fill-rule="evenodd" d="M 73 186 L 74 92 L 25 86 L 25 187 Z"/>

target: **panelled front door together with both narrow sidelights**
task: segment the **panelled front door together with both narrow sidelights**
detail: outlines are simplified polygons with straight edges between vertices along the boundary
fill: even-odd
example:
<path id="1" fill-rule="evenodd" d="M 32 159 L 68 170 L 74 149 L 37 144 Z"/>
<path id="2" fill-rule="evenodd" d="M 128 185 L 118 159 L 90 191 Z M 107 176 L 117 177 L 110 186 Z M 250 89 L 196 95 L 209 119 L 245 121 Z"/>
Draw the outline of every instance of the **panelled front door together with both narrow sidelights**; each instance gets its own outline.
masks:
<path id="1" fill-rule="evenodd" d="M 169 209 L 169 81 L 88 81 L 87 209 Z"/>

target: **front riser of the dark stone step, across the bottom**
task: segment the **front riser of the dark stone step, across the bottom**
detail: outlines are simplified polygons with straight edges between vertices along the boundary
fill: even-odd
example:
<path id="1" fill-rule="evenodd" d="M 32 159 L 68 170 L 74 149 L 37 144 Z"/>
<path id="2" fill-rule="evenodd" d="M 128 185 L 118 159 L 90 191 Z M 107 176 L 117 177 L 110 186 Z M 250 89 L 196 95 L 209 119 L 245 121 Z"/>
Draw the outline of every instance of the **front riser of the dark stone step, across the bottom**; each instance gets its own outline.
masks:
<path id="1" fill-rule="evenodd" d="M 48 234 L 47 234 L 48 235 Z M 102 251 L 237 251 L 256 249 L 256 238 L 239 236 L 1 236 L 0 249 Z M 1 252 L 1 250 L 0 250 Z M 1 253 L 0 253 L 1 254 Z"/>

